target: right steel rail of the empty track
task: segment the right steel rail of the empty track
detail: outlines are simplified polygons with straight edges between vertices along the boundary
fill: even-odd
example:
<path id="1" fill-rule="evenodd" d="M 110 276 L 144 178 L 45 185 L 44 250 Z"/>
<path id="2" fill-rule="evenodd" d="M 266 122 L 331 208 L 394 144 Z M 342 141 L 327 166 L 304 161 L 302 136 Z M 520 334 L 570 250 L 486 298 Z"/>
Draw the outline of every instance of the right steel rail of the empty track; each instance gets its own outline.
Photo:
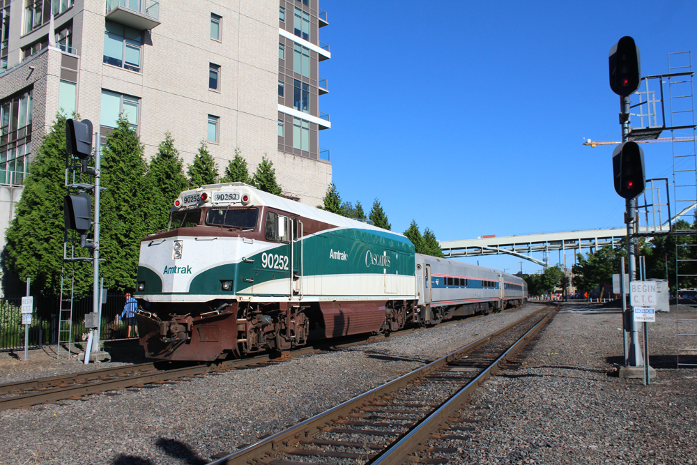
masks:
<path id="1" fill-rule="evenodd" d="M 460 409 L 465 404 L 472 393 L 489 377 L 500 370 L 500 366 L 511 356 L 517 353 L 523 346 L 528 344 L 528 341 L 535 337 L 539 330 L 551 319 L 556 310 L 547 314 L 543 319 L 537 322 L 533 328 L 510 346 L 495 362 L 484 369 L 473 380 L 463 386 L 459 391 L 455 392 L 441 406 L 434 410 L 429 416 L 418 422 L 413 429 L 406 432 L 397 441 L 392 443 L 389 448 L 380 452 L 374 459 L 367 462 L 369 465 L 400 465 L 407 461 L 408 455 L 418 450 L 419 446 L 426 442 L 431 433 L 436 431 L 438 427 L 443 425 L 445 421 L 452 416 L 454 412 Z"/>

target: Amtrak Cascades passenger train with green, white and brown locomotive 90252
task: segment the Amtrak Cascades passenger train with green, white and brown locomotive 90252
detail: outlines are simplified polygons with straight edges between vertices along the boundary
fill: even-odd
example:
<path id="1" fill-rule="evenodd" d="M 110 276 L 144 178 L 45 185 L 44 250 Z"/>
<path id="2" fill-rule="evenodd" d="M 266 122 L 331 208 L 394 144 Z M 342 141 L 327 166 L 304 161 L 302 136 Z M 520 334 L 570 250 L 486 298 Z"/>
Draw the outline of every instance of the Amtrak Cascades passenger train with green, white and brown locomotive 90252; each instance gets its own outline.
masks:
<path id="1" fill-rule="evenodd" d="M 488 314 L 527 294 L 514 275 L 224 183 L 182 192 L 167 231 L 141 241 L 134 296 L 146 356 L 213 361 Z"/>

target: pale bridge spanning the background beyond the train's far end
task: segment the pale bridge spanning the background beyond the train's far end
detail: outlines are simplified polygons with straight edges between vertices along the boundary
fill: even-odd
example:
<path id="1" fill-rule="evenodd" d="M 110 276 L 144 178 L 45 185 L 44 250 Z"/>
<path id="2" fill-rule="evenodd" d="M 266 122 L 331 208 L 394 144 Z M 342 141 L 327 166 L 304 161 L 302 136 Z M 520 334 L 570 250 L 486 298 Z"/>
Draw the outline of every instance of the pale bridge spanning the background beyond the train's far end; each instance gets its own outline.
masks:
<path id="1" fill-rule="evenodd" d="M 627 228 L 590 229 L 589 231 L 568 231 L 545 234 L 525 234 L 522 236 L 482 236 L 461 241 L 439 241 L 445 258 L 480 257 L 483 255 L 509 254 L 535 264 L 547 266 L 546 261 L 532 256 L 541 253 L 543 258 L 549 252 L 558 251 L 560 257 L 567 250 L 583 253 L 583 249 L 595 252 L 606 245 L 618 245 L 627 236 Z M 559 260 L 562 263 L 562 260 Z"/>

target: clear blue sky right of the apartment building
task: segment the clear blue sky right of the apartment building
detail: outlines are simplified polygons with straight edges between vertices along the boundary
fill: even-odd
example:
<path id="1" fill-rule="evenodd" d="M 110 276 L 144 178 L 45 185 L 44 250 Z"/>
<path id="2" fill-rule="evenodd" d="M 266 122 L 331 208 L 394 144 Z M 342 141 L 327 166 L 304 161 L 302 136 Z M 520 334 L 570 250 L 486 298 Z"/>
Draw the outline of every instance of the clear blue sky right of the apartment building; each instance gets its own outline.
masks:
<path id="1" fill-rule="evenodd" d="M 608 52 L 632 36 L 643 75 L 668 73 L 670 52 L 697 61 L 697 1 L 321 0 L 320 8 L 332 59 L 320 63 L 330 93 L 319 107 L 332 128 L 319 140 L 339 194 L 366 213 L 378 198 L 392 230 L 416 220 L 440 241 L 622 227 L 613 146 L 583 146 L 622 138 Z M 643 149 L 647 178 L 672 176 L 671 144 Z M 521 266 L 513 257 L 480 264 Z M 539 269 L 523 262 L 523 271 Z"/>

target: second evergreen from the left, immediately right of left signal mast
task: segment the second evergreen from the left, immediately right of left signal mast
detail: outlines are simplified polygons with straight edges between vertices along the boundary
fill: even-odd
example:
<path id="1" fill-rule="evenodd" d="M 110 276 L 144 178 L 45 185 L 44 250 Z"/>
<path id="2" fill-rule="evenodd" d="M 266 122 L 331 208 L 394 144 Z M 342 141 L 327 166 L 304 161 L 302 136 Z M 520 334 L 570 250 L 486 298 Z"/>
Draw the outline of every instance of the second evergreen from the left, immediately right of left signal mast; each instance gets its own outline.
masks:
<path id="1" fill-rule="evenodd" d="M 128 120 L 119 116 L 102 150 L 100 270 L 107 289 L 135 288 L 140 241 L 146 236 L 152 193 L 145 178 L 143 146 Z"/>

